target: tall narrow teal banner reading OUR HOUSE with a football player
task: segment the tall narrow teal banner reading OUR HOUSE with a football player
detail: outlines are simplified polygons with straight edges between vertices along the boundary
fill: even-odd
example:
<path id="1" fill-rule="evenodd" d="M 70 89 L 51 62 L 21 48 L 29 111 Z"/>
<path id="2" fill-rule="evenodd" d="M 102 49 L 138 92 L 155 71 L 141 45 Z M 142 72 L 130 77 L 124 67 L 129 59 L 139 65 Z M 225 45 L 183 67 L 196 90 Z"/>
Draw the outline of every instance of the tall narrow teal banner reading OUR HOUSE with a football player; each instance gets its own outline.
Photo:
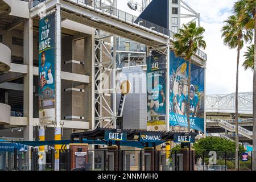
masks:
<path id="1" fill-rule="evenodd" d="M 55 121 L 55 13 L 39 20 L 39 123 Z"/>

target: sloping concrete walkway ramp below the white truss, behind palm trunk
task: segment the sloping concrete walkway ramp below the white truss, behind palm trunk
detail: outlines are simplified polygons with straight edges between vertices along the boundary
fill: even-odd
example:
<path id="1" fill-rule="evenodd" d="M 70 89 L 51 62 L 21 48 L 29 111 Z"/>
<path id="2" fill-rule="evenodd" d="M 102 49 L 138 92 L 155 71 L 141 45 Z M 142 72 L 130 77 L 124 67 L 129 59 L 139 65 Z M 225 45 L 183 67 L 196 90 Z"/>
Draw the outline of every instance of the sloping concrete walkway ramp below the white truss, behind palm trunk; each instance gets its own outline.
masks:
<path id="1" fill-rule="evenodd" d="M 222 119 L 207 119 L 207 128 L 216 128 L 221 127 L 224 130 L 228 130 L 230 132 L 236 131 L 236 126 L 230 124 L 228 121 L 224 121 Z M 245 128 L 238 126 L 238 134 L 242 135 L 243 137 L 249 138 L 250 140 L 253 139 L 253 132 L 246 130 Z"/>

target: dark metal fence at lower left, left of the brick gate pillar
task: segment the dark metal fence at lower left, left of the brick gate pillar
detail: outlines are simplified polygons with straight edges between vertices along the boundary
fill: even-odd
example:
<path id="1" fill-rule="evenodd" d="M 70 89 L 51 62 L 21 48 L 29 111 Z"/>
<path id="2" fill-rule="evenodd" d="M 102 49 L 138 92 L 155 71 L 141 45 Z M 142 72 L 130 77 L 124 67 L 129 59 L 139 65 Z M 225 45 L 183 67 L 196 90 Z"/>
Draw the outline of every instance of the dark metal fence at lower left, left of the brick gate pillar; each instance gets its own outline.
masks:
<path id="1" fill-rule="evenodd" d="M 0 151 L 0 171 L 68 171 L 70 170 L 69 150 Z M 59 160 L 55 160 L 55 155 Z"/>

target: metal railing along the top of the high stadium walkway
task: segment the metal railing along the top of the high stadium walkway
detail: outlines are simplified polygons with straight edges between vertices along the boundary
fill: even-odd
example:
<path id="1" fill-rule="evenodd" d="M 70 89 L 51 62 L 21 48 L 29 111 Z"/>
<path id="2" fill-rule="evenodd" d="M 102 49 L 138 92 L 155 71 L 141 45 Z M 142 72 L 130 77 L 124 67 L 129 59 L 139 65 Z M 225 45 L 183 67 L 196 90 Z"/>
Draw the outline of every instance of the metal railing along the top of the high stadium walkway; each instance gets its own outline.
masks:
<path id="1" fill-rule="evenodd" d="M 32 7 L 39 5 L 40 3 L 47 1 L 47 0 L 34 0 L 32 2 Z M 98 13 L 103 13 L 105 15 L 111 16 L 118 20 L 122 20 L 125 23 L 132 24 L 141 28 L 143 30 L 152 32 L 159 36 L 169 37 L 171 40 L 174 39 L 174 32 L 169 30 L 168 28 L 164 28 L 159 26 L 158 24 L 152 23 L 148 20 L 143 18 L 138 18 L 132 14 L 126 13 L 125 11 L 119 10 L 111 5 L 106 5 L 105 3 L 101 3 L 98 0 L 85 2 L 84 0 L 63 0 L 65 2 L 76 3 L 76 5 L 84 6 L 86 9 L 97 11 Z M 199 56 L 203 60 L 207 60 L 207 54 L 197 49 L 196 56 Z"/>

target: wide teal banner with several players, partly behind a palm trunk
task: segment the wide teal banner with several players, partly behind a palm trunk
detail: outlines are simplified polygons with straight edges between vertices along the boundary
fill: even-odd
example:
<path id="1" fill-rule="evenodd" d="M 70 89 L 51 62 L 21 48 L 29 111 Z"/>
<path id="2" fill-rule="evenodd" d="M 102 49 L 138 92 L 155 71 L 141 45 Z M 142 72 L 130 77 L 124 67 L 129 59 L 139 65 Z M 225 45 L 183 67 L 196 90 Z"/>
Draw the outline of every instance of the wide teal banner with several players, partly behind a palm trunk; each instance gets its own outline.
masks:
<path id="1" fill-rule="evenodd" d="M 170 51 L 170 126 L 188 127 L 204 132 L 204 69 L 191 64 L 190 93 L 188 94 L 188 61 L 175 57 Z"/>

